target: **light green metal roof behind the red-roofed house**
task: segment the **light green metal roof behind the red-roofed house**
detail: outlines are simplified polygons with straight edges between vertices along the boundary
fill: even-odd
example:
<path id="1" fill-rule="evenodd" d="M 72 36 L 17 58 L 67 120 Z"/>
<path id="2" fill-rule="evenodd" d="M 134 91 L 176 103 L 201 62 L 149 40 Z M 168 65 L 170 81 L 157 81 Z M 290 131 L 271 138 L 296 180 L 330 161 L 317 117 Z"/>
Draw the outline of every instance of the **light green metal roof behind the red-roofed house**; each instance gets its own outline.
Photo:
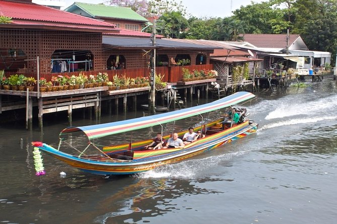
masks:
<path id="1" fill-rule="evenodd" d="M 118 6 L 106 6 L 103 4 L 87 4 L 87 3 L 78 3 L 75 2 L 72 6 L 66 8 L 64 11 L 72 12 L 80 8 L 86 13 L 90 14 L 92 17 L 104 17 L 104 18 L 113 18 L 121 20 L 133 20 L 133 21 L 142 21 L 148 22 L 147 19 L 139 15 L 138 13 L 131 10 L 131 8 L 118 7 Z"/>

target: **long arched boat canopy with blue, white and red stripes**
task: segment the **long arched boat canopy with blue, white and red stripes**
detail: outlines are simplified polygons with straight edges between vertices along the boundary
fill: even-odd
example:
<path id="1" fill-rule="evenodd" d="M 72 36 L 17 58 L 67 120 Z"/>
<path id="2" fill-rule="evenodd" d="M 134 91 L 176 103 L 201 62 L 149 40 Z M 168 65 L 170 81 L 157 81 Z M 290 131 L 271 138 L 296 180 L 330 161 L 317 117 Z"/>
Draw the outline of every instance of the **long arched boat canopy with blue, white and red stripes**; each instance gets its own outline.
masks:
<path id="1" fill-rule="evenodd" d="M 189 108 L 179 109 L 170 111 L 163 114 L 152 115 L 141 118 L 134 118 L 125 121 L 111 122 L 99 125 L 90 125 L 82 127 L 69 127 L 61 131 L 59 134 L 60 138 L 62 135 L 70 134 L 74 132 L 83 131 L 89 140 L 102 138 L 105 136 L 115 135 L 119 133 L 129 132 L 133 130 L 144 129 L 152 127 L 155 125 L 161 125 L 192 116 L 205 114 L 210 111 L 228 107 L 234 104 L 242 103 L 247 100 L 253 99 L 254 94 L 250 92 L 236 92 L 232 95 L 226 96 L 224 98 L 215 100 L 210 103 L 203 105 L 193 106 Z"/>

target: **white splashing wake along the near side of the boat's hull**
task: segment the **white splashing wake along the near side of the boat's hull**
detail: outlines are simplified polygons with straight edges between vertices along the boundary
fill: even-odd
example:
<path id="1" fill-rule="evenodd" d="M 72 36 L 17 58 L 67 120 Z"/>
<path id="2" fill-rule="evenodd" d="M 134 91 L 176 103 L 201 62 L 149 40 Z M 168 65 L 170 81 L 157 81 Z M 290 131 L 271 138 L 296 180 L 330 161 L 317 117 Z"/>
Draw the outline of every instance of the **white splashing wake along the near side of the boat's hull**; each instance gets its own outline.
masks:
<path id="1" fill-rule="evenodd" d="M 220 149 L 221 150 L 221 149 Z M 250 151 L 250 150 L 249 150 Z M 198 176 L 214 175 L 214 167 L 223 162 L 230 161 L 233 157 L 241 156 L 248 151 L 226 152 L 226 154 L 211 156 L 202 159 L 190 159 L 175 164 L 168 164 L 137 174 L 139 178 L 177 178 L 194 179 Z"/>

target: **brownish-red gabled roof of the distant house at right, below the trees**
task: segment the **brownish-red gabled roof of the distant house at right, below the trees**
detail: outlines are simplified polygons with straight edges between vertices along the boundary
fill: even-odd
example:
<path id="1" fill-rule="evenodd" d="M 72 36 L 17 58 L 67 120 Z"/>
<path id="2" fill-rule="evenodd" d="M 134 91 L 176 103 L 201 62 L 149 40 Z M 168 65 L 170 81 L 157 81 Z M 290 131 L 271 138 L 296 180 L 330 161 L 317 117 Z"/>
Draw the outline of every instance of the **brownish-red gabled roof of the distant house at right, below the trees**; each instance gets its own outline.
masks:
<path id="1" fill-rule="evenodd" d="M 290 34 L 289 46 L 299 38 L 299 34 Z M 260 48 L 286 48 L 286 34 L 244 34 L 244 41 Z"/>

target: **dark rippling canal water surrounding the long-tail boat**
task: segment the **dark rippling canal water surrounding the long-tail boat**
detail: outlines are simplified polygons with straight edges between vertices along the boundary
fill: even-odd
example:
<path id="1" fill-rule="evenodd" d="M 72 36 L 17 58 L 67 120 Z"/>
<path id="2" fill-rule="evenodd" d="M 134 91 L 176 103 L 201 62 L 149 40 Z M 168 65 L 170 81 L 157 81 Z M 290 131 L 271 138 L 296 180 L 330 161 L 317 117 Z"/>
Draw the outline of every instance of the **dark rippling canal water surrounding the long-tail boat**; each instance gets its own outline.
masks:
<path id="1" fill-rule="evenodd" d="M 66 115 L 44 118 L 43 133 L 2 125 L 0 223 L 335 223 L 336 82 L 306 83 L 256 93 L 246 105 L 256 134 L 139 175 L 105 179 L 43 154 L 46 175 L 35 176 L 30 142 L 55 146 Z M 103 111 L 101 122 L 134 116 Z"/>

